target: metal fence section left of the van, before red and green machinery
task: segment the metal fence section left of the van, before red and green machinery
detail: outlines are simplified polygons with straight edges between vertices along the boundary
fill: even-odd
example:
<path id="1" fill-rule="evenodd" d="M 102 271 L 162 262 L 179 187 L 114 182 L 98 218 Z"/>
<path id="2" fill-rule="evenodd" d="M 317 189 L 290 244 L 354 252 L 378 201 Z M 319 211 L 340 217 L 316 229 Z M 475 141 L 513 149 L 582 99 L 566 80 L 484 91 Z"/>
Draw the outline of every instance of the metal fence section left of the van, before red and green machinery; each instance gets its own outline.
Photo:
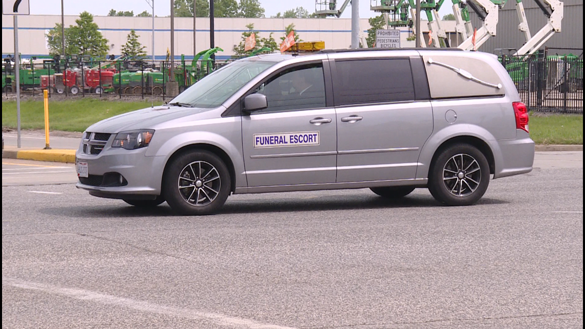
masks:
<path id="1" fill-rule="evenodd" d="M 172 98 L 212 71 L 225 66 L 231 60 L 176 61 L 174 68 L 169 61 L 55 61 L 26 60 L 20 64 L 20 89 L 23 94 L 41 94 L 65 97 L 86 95 L 114 95 Z M 177 92 L 168 87 L 176 81 Z M 2 92 L 8 95 L 16 91 L 14 69 L 8 61 L 2 67 Z"/>

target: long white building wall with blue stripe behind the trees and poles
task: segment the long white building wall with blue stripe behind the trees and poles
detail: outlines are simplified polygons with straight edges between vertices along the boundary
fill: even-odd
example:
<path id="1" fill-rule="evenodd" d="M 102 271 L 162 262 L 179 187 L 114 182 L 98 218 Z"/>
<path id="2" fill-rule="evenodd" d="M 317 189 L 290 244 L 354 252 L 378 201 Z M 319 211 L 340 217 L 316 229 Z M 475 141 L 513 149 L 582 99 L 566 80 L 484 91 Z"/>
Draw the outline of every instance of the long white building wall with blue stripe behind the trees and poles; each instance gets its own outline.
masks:
<path id="1" fill-rule="evenodd" d="M 65 16 L 65 26 L 75 25 L 78 16 Z M 53 29 L 56 23 L 61 22 L 59 15 L 30 15 L 19 16 L 19 51 L 23 58 L 30 56 L 48 55 L 45 34 Z M 94 16 L 94 22 L 99 26 L 102 35 L 108 39 L 111 46 L 110 54 L 119 56 L 122 45 L 130 30 L 134 29 L 139 35 L 139 41 L 146 46 L 146 53 L 150 57 L 152 48 L 152 18 L 150 17 L 115 17 Z M 286 26 L 293 23 L 298 35 L 304 41 L 322 40 L 326 49 L 348 48 L 351 40 L 351 19 L 281 19 L 281 18 L 216 18 L 215 19 L 215 46 L 224 51 L 216 54 L 222 59 L 233 54 L 233 46 L 239 44 L 242 32 L 247 31 L 246 25 L 253 23 L 254 29 L 260 37 L 273 37 L 280 43 Z M 447 22 L 450 23 L 450 22 Z M 454 22 L 453 22 L 454 23 Z M 426 23 L 421 24 L 424 32 L 428 30 Z M 209 48 L 209 18 L 197 18 L 197 52 Z M 445 26 L 448 28 L 449 26 Z M 367 19 L 360 19 L 360 30 L 367 36 L 370 28 Z M 166 57 L 167 48 L 170 48 L 170 18 L 154 19 L 154 48 L 157 59 Z M 403 47 L 414 47 L 414 42 L 407 42 L 408 29 L 401 28 Z M 2 16 L 2 53 L 14 52 L 13 20 L 11 16 Z M 112 46 L 113 44 L 113 46 Z M 175 50 L 177 57 L 185 54 L 187 59 L 193 56 L 193 19 L 175 18 Z"/>

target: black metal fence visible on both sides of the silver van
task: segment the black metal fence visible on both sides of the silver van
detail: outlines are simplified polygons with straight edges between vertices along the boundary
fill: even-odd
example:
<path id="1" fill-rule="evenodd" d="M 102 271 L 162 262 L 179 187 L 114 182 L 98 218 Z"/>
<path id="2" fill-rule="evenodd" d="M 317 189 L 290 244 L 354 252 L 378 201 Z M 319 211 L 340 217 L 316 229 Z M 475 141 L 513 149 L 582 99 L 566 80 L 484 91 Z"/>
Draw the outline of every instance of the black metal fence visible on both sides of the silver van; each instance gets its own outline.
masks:
<path id="1" fill-rule="evenodd" d="M 207 74 L 231 60 L 178 60 L 174 68 L 169 61 L 56 61 L 27 60 L 20 65 L 20 87 L 23 94 L 63 94 L 66 97 L 119 98 L 175 97 Z M 39 60 L 37 60 L 39 61 Z M 502 65 L 514 81 L 522 101 L 529 111 L 583 113 L 583 52 L 579 56 L 552 55 L 500 56 Z M 9 61 L 2 67 L 2 91 L 14 92 L 16 83 Z M 177 92 L 167 88 L 176 81 Z"/>

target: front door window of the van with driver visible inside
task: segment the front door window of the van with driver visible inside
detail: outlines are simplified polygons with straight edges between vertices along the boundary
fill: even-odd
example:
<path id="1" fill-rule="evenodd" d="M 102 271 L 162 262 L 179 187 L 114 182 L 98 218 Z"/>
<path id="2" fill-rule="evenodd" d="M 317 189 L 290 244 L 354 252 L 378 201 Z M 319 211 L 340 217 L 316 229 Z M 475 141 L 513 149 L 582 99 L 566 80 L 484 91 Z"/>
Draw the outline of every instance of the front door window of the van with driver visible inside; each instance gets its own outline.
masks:
<path id="1" fill-rule="evenodd" d="M 323 65 L 294 67 L 285 70 L 258 88 L 266 95 L 268 108 L 260 112 L 325 107 Z"/>

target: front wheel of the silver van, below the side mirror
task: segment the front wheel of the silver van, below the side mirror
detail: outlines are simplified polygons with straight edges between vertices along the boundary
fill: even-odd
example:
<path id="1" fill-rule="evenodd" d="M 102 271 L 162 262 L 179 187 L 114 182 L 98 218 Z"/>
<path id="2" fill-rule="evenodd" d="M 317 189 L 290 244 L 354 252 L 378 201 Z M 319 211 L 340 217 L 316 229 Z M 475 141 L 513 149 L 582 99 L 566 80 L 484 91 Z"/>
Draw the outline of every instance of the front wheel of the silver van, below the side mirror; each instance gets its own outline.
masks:
<path id="1" fill-rule="evenodd" d="M 194 150 L 177 156 L 163 178 L 163 194 L 173 211 L 208 215 L 227 200 L 231 181 L 228 167 L 214 153 Z"/>

